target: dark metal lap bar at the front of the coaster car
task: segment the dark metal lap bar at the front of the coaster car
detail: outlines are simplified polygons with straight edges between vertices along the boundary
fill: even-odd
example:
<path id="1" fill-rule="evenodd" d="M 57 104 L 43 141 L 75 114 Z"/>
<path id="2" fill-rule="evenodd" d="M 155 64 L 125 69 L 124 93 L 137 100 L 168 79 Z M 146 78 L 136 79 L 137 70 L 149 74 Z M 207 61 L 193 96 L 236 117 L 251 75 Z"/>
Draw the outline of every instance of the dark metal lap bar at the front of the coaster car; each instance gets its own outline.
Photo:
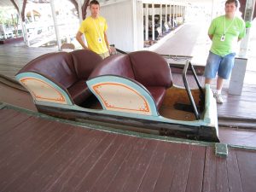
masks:
<path id="1" fill-rule="evenodd" d="M 200 119 L 200 114 L 198 113 L 198 110 L 196 108 L 195 101 L 194 101 L 194 98 L 192 96 L 191 90 L 189 89 L 189 84 L 188 84 L 188 80 L 187 80 L 187 72 L 188 72 L 189 66 L 190 66 L 190 68 L 193 68 L 191 63 L 190 63 L 190 61 L 187 60 L 186 64 L 185 64 L 185 67 L 183 68 L 183 84 L 184 84 L 184 86 L 185 86 L 185 88 L 187 90 L 187 93 L 188 93 L 188 96 L 189 96 L 189 101 L 191 102 L 191 105 L 193 107 L 193 111 L 195 113 L 195 118 L 196 119 Z M 192 72 L 193 72 L 193 69 L 192 69 Z M 193 74 L 194 74 L 194 77 L 195 77 L 195 81 L 197 81 L 196 83 L 198 83 L 197 85 L 199 85 L 201 87 L 201 85 L 199 84 L 199 81 L 198 81 L 198 79 L 196 77 L 195 70 L 194 70 Z"/>

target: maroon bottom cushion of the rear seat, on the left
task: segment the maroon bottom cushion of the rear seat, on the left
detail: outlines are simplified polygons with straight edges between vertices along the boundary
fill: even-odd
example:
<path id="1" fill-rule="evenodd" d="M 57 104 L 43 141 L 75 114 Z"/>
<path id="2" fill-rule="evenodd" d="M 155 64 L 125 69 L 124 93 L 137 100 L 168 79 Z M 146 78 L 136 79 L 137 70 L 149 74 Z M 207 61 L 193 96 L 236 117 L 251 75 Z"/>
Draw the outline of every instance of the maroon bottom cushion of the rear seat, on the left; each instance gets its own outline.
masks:
<path id="1" fill-rule="evenodd" d="M 71 87 L 67 88 L 70 96 L 73 98 L 73 102 L 77 105 L 84 102 L 89 96 L 91 96 L 91 92 L 87 87 L 85 80 L 79 80 Z"/>

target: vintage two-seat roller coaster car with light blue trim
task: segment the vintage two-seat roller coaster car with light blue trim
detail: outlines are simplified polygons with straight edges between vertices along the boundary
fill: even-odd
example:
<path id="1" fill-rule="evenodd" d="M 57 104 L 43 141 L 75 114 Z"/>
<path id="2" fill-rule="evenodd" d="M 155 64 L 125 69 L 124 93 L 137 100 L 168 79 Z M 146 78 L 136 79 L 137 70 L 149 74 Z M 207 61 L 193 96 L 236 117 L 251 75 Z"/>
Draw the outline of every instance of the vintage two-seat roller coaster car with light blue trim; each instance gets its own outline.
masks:
<path id="1" fill-rule="evenodd" d="M 189 89 L 189 68 L 198 89 Z M 212 90 L 208 84 L 201 88 L 189 60 L 183 68 L 184 87 L 172 84 L 168 63 L 150 51 L 103 61 L 90 50 L 50 53 L 26 64 L 16 79 L 42 113 L 219 142 Z"/>

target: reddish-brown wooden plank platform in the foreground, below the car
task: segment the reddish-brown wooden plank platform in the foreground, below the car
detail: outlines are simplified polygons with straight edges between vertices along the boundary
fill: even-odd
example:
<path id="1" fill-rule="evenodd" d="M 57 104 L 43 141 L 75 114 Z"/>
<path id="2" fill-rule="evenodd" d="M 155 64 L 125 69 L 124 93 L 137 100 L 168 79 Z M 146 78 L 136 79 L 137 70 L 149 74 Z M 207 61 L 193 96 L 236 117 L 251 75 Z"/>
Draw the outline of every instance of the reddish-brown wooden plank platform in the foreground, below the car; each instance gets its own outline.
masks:
<path id="1" fill-rule="evenodd" d="M 96 131 L 0 110 L 0 191 L 230 191 L 256 189 L 256 150 Z"/>

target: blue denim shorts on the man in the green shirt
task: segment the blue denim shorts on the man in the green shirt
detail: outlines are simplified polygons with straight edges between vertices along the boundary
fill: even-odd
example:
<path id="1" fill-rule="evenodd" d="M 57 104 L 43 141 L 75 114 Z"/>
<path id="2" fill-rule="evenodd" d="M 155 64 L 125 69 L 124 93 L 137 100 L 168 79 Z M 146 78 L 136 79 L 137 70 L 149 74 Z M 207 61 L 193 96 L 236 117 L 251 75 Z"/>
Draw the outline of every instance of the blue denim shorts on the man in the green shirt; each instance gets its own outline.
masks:
<path id="1" fill-rule="evenodd" d="M 218 77 L 230 79 L 230 73 L 234 67 L 235 55 L 236 53 L 230 53 L 229 55 L 220 56 L 210 51 L 204 76 L 207 79 L 214 79 L 218 73 Z"/>

